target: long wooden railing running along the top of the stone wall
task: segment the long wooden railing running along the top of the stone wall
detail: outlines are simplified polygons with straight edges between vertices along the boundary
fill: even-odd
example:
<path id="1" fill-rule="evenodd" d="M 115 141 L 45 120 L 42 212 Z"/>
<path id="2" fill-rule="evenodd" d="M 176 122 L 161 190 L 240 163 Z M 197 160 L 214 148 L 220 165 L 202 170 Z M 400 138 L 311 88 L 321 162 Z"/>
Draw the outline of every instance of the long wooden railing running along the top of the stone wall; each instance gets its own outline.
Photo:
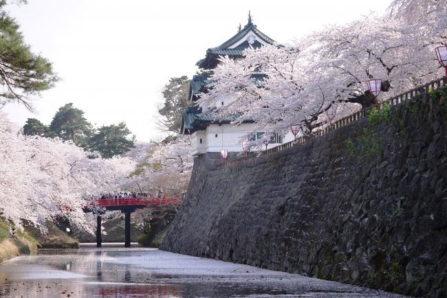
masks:
<path id="1" fill-rule="evenodd" d="M 433 81 L 428 82 L 427 84 L 424 84 L 424 85 L 417 87 L 415 89 L 411 89 L 404 93 L 400 93 L 399 95 L 396 95 L 393 98 L 382 100 L 380 102 L 380 105 L 383 106 L 384 104 L 390 104 L 391 106 L 395 106 L 397 104 L 402 104 L 403 102 L 406 102 L 408 100 L 416 98 L 417 96 L 425 97 L 425 96 L 428 96 L 428 91 L 433 90 L 433 89 L 439 89 L 444 85 L 446 85 L 446 77 L 439 78 L 437 80 L 433 80 Z M 265 155 L 275 154 L 276 152 L 281 152 L 283 150 L 292 148 L 294 146 L 306 144 L 309 141 L 312 141 L 313 139 L 316 139 L 318 137 L 322 137 L 323 135 L 326 135 L 327 133 L 329 133 L 332 130 L 336 130 L 340 127 L 347 126 L 348 124 L 351 124 L 351 122 L 358 121 L 364 117 L 367 117 L 371 108 L 374 108 L 374 106 L 371 106 L 369 108 L 364 108 L 363 110 L 358 111 L 357 113 L 353 113 L 347 117 L 338 119 L 336 122 L 329 124 L 329 126 L 327 126 L 326 128 L 324 128 L 322 130 L 314 131 L 311 135 L 305 135 L 303 137 L 298 137 L 298 138 L 294 139 L 293 141 L 290 141 L 285 144 L 270 148 L 268 150 L 264 150 L 264 151 L 260 151 L 260 152 L 253 152 L 252 154 L 249 154 L 246 157 L 240 157 L 239 159 L 223 161 L 223 163 L 220 163 L 219 165 L 217 165 L 217 168 L 219 168 L 219 169 L 226 168 L 231 165 L 237 165 L 239 163 L 244 163 L 250 159 L 255 159 L 257 157 L 263 157 Z"/>

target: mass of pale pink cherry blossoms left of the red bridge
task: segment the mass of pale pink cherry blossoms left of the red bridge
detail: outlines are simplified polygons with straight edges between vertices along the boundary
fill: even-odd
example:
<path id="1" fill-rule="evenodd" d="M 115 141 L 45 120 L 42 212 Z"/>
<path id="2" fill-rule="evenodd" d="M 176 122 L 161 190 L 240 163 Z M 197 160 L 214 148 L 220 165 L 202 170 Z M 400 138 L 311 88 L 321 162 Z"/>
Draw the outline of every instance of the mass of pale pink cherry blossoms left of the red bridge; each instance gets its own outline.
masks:
<path id="1" fill-rule="evenodd" d="M 90 230 L 83 207 L 89 195 L 116 190 L 133 170 L 129 158 L 89 159 L 71 141 L 25 136 L 0 113 L 0 211 L 14 225 L 45 229 L 63 215 Z"/>

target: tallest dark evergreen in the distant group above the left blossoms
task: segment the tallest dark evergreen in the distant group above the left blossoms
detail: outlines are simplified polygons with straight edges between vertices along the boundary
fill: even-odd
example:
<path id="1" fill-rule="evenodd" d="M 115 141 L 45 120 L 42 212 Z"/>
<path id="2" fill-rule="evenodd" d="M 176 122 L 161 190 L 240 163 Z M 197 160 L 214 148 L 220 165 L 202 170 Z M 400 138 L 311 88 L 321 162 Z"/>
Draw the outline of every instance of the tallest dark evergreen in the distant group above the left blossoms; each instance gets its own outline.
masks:
<path id="1" fill-rule="evenodd" d="M 91 124 L 84 117 L 84 112 L 75 108 L 70 102 L 61 106 L 50 124 L 50 130 L 65 140 L 72 140 L 76 145 L 87 146 L 86 140 L 92 134 Z"/>

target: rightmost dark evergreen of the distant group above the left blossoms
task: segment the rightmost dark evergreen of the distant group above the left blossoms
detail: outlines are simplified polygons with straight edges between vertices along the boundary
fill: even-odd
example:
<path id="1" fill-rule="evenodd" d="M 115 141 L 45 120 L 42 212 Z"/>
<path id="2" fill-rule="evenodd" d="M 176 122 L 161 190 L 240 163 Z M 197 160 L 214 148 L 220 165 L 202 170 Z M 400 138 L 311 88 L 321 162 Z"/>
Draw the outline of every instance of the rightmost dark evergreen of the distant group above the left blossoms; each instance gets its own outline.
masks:
<path id="1" fill-rule="evenodd" d="M 135 136 L 131 134 L 124 122 L 118 125 L 102 126 L 93 137 L 87 140 L 90 150 L 100 152 L 101 156 L 109 159 L 115 155 L 123 154 L 134 146 Z"/>

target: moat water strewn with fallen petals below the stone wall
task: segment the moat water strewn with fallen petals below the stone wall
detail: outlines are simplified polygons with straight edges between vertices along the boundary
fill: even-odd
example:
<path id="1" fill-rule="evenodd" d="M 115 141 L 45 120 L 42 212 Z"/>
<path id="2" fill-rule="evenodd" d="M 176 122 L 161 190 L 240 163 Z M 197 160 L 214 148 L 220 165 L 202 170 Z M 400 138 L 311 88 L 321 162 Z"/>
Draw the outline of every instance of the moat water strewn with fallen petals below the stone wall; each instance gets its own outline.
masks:
<path id="1" fill-rule="evenodd" d="M 47 249 L 0 266 L 0 297 L 402 297 L 141 247 Z"/>

